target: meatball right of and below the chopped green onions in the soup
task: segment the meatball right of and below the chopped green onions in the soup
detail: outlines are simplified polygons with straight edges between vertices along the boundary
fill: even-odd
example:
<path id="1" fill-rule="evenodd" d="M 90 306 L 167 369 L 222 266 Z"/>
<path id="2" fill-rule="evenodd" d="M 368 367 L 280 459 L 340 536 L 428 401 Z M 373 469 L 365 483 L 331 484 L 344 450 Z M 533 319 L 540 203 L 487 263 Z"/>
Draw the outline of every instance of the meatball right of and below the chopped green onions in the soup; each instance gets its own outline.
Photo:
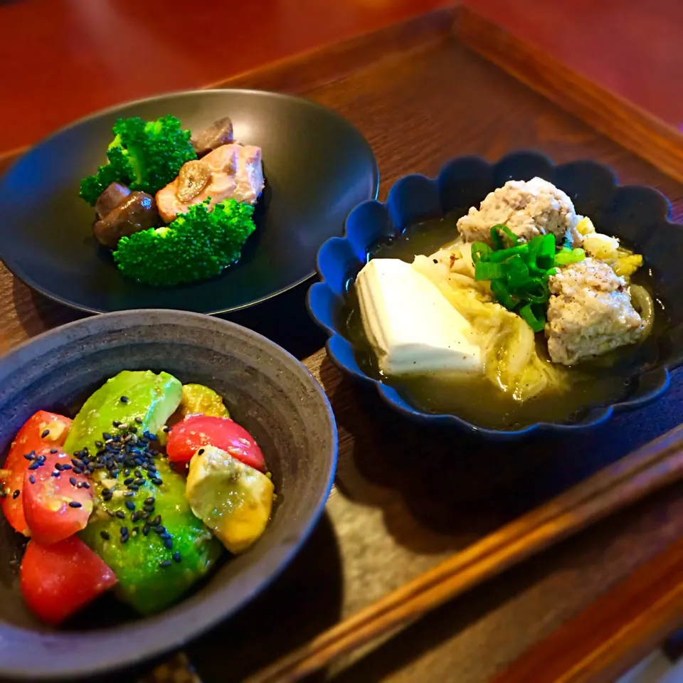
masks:
<path id="1" fill-rule="evenodd" d="M 626 281 L 603 261 L 586 258 L 558 268 L 549 285 L 546 337 L 554 363 L 573 365 L 643 336 Z"/>

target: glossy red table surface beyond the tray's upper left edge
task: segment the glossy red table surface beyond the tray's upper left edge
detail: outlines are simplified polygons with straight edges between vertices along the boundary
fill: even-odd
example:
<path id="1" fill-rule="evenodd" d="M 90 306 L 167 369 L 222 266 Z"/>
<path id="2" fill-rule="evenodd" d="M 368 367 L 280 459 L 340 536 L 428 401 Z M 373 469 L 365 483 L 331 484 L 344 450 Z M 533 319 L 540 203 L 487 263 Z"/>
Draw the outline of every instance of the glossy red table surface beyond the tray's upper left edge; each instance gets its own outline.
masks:
<path id="1" fill-rule="evenodd" d="M 450 0 L 0 0 L 0 153 L 104 107 L 206 88 Z"/>

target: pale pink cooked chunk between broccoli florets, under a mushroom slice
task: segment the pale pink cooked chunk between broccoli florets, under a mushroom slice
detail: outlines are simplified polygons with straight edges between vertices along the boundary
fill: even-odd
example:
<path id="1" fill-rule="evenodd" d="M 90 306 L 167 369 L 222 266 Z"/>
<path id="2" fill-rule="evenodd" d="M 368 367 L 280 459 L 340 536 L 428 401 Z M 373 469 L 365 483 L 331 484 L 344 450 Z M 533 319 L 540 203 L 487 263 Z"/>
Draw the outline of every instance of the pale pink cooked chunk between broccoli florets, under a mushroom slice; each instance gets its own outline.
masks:
<path id="1" fill-rule="evenodd" d="M 157 192 L 157 210 L 166 223 L 171 223 L 179 213 L 185 213 L 190 206 L 209 197 L 210 206 L 225 199 L 255 204 L 263 191 L 260 147 L 223 144 L 202 157 L 201 163 L 208 166 L 211 179 L 194 198 L 186 203 L 179 200 L 176 196 L 177 178 Z"/>

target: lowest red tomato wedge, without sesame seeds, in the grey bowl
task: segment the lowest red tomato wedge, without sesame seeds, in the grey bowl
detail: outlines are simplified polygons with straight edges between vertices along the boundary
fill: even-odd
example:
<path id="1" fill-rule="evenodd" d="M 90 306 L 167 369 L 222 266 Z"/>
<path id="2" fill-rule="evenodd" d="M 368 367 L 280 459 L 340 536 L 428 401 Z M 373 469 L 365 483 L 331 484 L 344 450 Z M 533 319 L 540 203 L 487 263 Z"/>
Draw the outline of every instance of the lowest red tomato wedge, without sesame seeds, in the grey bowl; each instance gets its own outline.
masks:
<path id="1" fill-rule="evenodd" d="M 21 561 L 21 593 L 33 613 L 58 624 L 108 591 L 114 572 L 78 536 L 52 546 L 29 541 Z"/>

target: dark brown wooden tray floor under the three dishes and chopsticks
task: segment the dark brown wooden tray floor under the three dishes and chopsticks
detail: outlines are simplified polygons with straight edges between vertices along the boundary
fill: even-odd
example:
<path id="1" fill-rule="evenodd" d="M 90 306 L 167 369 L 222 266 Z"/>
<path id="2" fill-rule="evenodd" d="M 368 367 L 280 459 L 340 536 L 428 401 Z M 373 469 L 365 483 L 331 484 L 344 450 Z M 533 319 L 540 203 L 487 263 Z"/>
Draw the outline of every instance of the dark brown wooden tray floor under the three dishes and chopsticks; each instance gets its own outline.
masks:
<path id="1" fill-rule="evenodd" d="M 298 92 L 342 113 L 369 139 L 380 196 L 399 176 L 437 173 L 459 154 L 495 159 L 534 147 L 556 162 L 593 158 L 623 183 L 683 186 L 537 95 L 455 38 L 452 10 L 221 85 Z M 305 288 L 232 319 L 304 359 L 339 424 L 337 486 L 312 539 L 240 615 L 186 649 L 204 683 L 239 681 L 446 556 L 683 421 L 683 383 L 666 398 L 568 439 L 491 446 L 401 423 L 342 376 L 303 309 Z M 77 314 L 0 270 L 0 352 Z M 285 332 L 283 332 L 285 330 Z M 339 683 L 483 683 L 683 533 L 669 489 L 532 558 L 364 655 Z M 115 677 L 130 681 L 132 673 Z M 159 678 L 157 677 L 157 680 Z"/>

